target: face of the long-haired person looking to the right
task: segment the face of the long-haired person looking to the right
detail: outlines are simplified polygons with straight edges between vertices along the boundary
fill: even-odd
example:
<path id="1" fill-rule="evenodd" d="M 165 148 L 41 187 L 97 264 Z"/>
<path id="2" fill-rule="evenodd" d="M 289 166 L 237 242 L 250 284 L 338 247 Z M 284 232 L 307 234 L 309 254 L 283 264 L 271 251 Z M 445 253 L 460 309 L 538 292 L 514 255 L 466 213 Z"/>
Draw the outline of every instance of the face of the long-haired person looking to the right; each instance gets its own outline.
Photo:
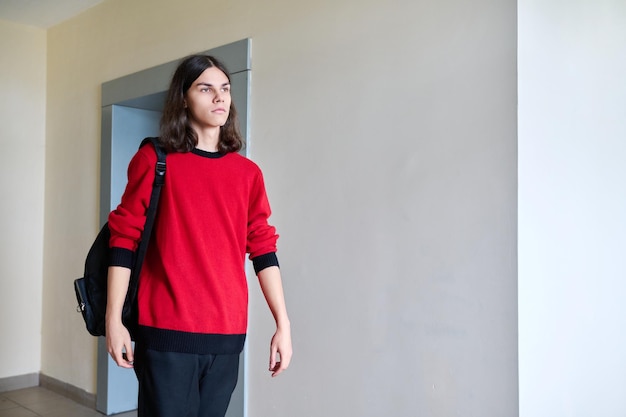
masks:
<path id="1" fill-rule="evenodd" d="M 230 82 L 219 68 L 210 67 L 185 93 L 185 107 L 196 129 L 220 127 L 230 112 Z"/>

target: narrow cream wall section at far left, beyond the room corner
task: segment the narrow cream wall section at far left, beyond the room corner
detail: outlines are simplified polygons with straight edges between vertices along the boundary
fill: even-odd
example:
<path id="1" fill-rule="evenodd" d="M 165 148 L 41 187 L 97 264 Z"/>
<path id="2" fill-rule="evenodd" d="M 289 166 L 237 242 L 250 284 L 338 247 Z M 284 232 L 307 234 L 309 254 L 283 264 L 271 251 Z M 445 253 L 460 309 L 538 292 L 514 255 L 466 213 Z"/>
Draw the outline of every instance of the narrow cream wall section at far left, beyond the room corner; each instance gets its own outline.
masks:
<path id="1" fill-rule="evenodd" d="M 46 32 L 0 20 L 0 378 L 41 369 Z"/>

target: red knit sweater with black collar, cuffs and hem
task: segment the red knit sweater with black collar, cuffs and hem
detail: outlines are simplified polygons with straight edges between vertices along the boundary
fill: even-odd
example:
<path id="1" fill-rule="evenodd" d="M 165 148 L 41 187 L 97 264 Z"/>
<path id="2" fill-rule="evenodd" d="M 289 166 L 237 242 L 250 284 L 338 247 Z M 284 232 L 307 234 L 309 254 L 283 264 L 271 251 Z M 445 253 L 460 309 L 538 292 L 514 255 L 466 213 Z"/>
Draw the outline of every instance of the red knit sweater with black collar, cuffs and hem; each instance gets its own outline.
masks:
<path id="1" fill-rule="evenodd" d="M 109 215 L 112 265 L 132 266 L 146 219 L 156 153 L 144 146 L 128 167 Z M 237 153 L 167 156 L 165 185 L 139 277 L 139 332 L 147 348 L 238 353 L 247 328 L 249 253 L 255 270 L 278 265 L 278 235 L 261 170 Z"/>

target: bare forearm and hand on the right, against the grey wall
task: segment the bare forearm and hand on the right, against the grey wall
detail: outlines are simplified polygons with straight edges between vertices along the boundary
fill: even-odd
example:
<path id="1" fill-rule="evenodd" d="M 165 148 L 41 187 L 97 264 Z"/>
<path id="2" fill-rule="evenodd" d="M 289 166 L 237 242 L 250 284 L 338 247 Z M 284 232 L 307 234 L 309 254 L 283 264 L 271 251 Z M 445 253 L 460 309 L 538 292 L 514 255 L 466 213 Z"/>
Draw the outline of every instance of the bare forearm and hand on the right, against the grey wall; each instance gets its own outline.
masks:
<path id="1" fill-rule="evenodd" d="M 270 343 L 270 372 L 277 376 L 289 366 L 293 354 L 291 347 L 291 324 L 287 316 L 280 269 L 264 268 L 258 273 L 261 290 L 276 321 L 276 333 Z"/>

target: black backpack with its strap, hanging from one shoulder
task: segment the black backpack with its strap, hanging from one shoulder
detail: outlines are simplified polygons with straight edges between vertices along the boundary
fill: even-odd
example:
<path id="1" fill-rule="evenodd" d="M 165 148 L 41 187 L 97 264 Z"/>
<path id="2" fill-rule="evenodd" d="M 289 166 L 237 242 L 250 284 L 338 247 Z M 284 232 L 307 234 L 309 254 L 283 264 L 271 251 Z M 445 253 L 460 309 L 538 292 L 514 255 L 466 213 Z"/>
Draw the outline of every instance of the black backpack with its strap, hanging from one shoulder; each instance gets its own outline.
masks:
<path id="1" fill-rule="evenodd" d="M 152 143 L 157 153 L 157 164 L 155 168 L 154 183 L 150 196 L 150 206 L 146 213 L 146 224 L 141 236 L 139 247 L 135 254 L 134 266 L 128 284 L 128 293 L 122 311 L 122 322 L 130 331 L 131 337 L 135 339 L 137 330 L 137 286 L 139 282 L 139 272 L 148 249 L 150 234 L 154 224 L 154 217 L 159 203 L 161 187 L 165 182 L 165 151 L 158 144 L 157 138 L 146 138 L 141 142 L 140 148 L 147 143 Z M 105 223 L 98 233 L 96 240 L 91 245 L 85 260 L 85 274 L 82 278 L 74 280 L 74 291 L 78 307 L 76 311 L 82 313 L 87 331 L 93 336 L 105 336 L 105 321 L 107 305 L 107 277 L 111 249 L 109 248 L 109 238 L 111 232 L 109 224 Z"/>

